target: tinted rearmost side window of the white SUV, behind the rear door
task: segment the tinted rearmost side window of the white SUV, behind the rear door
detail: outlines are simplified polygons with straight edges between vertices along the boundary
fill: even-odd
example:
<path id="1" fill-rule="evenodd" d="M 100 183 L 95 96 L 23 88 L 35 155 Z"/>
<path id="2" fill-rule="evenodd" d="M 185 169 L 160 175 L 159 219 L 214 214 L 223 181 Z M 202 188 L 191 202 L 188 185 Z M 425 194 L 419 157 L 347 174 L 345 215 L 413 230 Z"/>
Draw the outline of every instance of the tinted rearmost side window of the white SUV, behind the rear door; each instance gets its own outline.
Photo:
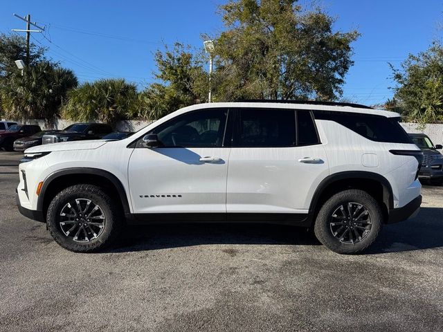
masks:
<path id="1" fill-rule="evenodd" d="M 331 111 L 314 111 L 314 117 L 318 120 L 337 122 L 375 142 L 413 144 L 406 131 L 399 124 L 399 118 Z"/>

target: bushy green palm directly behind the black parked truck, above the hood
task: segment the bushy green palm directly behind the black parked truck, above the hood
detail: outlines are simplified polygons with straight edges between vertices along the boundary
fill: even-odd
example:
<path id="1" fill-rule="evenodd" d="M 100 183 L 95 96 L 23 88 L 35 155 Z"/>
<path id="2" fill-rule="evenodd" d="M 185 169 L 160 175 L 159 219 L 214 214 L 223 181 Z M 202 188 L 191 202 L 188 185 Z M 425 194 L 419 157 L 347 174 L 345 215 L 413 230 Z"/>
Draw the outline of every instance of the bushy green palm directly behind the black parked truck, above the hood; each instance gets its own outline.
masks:
<path id="1" fill-rule="evenodd" d="M 136 85 L 124 79 L 86 82 L 68 92 L 62 107 L 64 118 L 114 123 L 131 118 L 138 104 Z"/>

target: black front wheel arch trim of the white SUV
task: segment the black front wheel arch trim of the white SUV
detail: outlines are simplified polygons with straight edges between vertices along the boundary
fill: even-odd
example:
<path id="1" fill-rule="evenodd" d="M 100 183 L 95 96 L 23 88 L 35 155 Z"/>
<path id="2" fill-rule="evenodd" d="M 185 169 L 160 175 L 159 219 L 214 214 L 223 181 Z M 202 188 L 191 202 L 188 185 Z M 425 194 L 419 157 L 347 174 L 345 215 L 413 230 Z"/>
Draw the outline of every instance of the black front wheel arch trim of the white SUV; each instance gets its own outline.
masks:
<path id="1" fill-rule="evenodd" d="M 123 183 L 111 172 L 92 167 L 73 167 L 53 172 L 45 178 L 37 199 L 37 210 L 42 211 L 46 219 L 46 210 L 55 195 L 70 185 L 88 183 L 104 187 L 108 194 L 118 199 L 125 216 L 130 216 L 129 201 Z"/>

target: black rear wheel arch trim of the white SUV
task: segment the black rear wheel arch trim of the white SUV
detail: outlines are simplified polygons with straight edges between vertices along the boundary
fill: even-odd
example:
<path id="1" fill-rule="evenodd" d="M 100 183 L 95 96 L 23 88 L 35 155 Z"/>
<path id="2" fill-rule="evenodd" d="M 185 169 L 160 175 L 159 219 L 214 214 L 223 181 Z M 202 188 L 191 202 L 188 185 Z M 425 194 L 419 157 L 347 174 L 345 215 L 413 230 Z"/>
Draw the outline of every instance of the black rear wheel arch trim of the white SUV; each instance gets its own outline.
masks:
<path id="1" fill-rule="evenodd" d="M 346 189 L 360 189 L 374 196 L 381 203 L 384 222 L 388 221 L 389 211 L 394 208 L 394 195 L 389 181 L 377 173 L 350 171 L 331 174 L 320 182 L 309 205 L 311 223 L 329 197 Z"/>

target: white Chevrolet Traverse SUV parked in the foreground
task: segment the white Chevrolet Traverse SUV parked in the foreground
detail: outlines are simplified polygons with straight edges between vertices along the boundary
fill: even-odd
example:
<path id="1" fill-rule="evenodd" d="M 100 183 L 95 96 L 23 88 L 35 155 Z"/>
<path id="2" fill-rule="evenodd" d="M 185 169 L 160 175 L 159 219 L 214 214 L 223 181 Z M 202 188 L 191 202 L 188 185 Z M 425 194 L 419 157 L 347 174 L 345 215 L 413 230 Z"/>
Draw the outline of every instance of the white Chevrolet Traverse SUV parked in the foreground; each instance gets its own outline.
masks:
<path id="1" fill-rule="evenodd" d="M 398 120 L 355 104 L 198 104 L 123 140 L 27 149 L 17 205 L 75 252 L 126 224 L 183 221 L 298 225 L 360 252 L 422 201 L 422 151 Z"/>

